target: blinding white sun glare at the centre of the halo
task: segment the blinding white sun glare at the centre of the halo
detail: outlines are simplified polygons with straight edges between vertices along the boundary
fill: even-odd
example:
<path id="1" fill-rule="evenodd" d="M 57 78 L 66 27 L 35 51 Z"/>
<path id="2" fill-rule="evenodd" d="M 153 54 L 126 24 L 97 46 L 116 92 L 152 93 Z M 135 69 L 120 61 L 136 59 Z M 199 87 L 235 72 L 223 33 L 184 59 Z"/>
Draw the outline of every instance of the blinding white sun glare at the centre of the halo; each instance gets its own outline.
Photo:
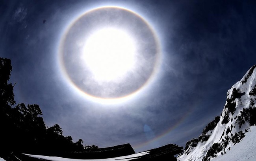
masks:
<path id="1" fill-rule="evenodd" d="M 86 40 L 82 59 L 95 80 L 115 81 L 134 68 L 135 42 L 122 30 L 100 29 Z"/>

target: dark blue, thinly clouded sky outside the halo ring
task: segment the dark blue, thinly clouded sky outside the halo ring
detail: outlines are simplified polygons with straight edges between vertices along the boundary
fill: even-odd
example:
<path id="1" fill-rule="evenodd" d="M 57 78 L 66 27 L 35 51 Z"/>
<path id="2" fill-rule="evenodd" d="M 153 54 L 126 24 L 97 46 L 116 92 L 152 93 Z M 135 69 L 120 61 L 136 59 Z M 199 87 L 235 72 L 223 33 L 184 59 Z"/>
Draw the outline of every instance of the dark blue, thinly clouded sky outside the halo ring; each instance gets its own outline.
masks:
<path id="1" fill-rule="evenodd" d="M 78 16 L 120 6 L 143 17 L 161 46 L 152 81 L 127 101 L 78 93 L 58 63 L 61 37 Z M 256 64 L 256 4 L 250 1 L 4 0 L 0 57 L 11 59 L 17 103 L 39 104 L 46 126 L 87 145 L 130 143 L 136 152 L 185 146 L 220 115 L 226 93 Z"/>

